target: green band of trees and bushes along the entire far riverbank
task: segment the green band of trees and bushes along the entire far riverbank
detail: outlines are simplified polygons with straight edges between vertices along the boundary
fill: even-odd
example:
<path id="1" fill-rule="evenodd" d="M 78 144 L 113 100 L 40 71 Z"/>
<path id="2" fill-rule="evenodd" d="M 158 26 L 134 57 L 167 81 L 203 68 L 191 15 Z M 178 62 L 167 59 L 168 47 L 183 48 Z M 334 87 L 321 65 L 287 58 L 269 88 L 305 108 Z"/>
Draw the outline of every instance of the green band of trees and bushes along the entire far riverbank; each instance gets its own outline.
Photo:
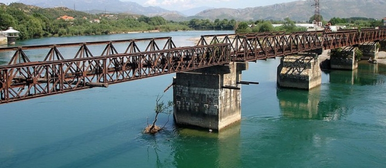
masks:
<path id="1" fill-rule="evenodd" d="M 71 19 L 58 19 L 62 16 Z M 310 22 L 314 20 L 310 17 Z M 323 20 L 323 17 L 320 16 Z M 329 21 L 332 25 L 347 25 L 352 27 L 376 27 L 381 21 L 372 18 L 333 17 Z M 326 21 L 323 21 L 326 23 Z M 281 26 L 273 26 L 280 24 Z M 134 14 L 89 14 L 74 11 L 65 7 L 39 8 L 21 3 L 5 5 L 0 3 L 0 30 L 13 27 L 19 30 L 21 39 L 40 38 L 43 36 L 70 36 L 124 33 L 131 31 L 178 31 L 178 30 L 236 30 L 237 33 L 271 32 L 271 31 L 306 31 L 304 27 L 297 27 L 294 21 L 285 18 L 284 21 L 248 21 L 235 20 L 210 21 L 194 18 L 190 21 L 166 21 L 161 16 L 148 17 Z"/>

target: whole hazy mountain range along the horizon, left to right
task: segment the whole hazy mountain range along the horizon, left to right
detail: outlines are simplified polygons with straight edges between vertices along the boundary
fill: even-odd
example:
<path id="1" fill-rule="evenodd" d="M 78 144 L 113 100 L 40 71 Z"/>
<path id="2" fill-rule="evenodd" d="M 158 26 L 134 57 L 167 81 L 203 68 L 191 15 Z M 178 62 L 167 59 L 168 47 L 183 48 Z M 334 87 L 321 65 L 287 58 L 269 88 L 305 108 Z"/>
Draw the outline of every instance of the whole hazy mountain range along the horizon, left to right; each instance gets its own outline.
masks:
<path id="1" fill-rule="evenodd" d="M 228 20 L 283 20 L 290 17 L 295 21 L 308 21 L 313 15 L 313 0 L 294 1 L 244 9 L 201 7 L 185 11 L 169 11 L 160 7 L 143 7 L 134 2 L 119 0 L 20 0 L 19 3 L 43 8 L 68 7 L 80 11 L 107 11 L 114 13 L 161 15 L 167 20 L 183 21 L 191 18 L 216 18 Z M 324 0 L 320 2 L 321 15 L 325 20 L 331 17 L 369 17 L 386 16 L 386 0 Z M 192 16 L 194 15 L 194 16 Z"/>

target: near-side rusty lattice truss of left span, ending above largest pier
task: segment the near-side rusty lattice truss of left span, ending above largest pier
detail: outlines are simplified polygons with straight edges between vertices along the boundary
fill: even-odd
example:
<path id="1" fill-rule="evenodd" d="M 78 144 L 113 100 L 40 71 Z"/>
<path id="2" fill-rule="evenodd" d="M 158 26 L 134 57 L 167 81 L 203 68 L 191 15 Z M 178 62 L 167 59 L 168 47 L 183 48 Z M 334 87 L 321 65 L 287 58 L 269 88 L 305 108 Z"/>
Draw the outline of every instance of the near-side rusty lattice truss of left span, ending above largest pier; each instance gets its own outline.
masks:
<path id="1" fill-rule="evenodd" d="M 230 46 L 216 44 L 1 66 L 0 103 L 107 86 L 230 61 Z"/>

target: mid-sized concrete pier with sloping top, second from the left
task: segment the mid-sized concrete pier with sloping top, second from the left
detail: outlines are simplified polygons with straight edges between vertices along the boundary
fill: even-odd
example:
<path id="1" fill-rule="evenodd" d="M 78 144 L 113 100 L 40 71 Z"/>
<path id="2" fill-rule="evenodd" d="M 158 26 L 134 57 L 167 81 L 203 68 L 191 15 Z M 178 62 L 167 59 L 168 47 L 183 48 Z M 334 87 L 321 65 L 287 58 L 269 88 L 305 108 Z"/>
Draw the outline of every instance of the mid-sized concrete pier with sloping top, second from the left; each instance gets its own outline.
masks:
<path id="1" fill-rule="evenodd" d="M 308 90 L 321 85 L 322 71 L 317 56 L 317 53 L 300 53 L 283 57 L 277 67 L 277 84 Z"/>

